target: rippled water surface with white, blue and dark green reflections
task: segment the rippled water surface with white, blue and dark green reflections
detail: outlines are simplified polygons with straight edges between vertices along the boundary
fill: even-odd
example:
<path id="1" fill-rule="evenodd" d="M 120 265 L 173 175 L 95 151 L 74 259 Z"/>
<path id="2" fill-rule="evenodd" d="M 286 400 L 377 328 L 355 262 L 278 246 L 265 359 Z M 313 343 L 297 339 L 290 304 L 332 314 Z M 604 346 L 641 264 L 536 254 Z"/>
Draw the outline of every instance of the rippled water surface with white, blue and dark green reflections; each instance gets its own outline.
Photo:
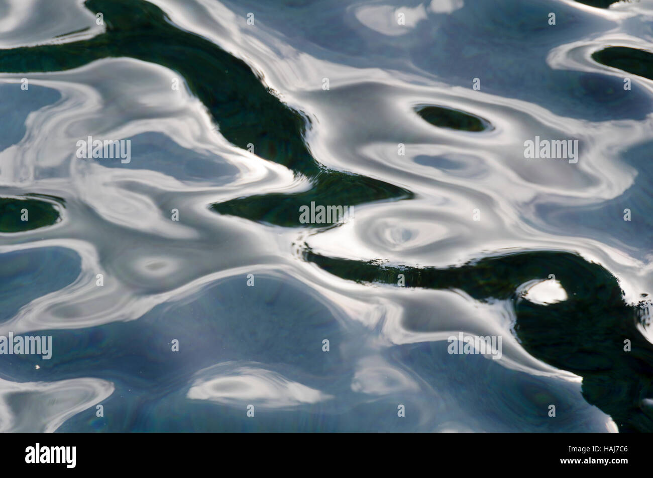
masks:
<path id="1" fill-rule="evenodd" d="M 653 431 L 609 3 L 0 0 L 0 431 Z"/>

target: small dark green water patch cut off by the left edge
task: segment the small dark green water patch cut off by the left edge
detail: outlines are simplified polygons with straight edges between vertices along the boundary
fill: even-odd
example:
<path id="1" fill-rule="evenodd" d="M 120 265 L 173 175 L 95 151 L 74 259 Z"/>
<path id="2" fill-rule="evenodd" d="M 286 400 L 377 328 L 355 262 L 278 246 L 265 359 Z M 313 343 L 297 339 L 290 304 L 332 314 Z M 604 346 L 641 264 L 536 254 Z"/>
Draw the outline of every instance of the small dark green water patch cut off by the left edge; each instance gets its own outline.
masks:
<path id="1" fill-rule="evenodd" d="M 50 202 L 0 197 L 0 232 L 31 231 L 57 221 L 59 212 Z"/>

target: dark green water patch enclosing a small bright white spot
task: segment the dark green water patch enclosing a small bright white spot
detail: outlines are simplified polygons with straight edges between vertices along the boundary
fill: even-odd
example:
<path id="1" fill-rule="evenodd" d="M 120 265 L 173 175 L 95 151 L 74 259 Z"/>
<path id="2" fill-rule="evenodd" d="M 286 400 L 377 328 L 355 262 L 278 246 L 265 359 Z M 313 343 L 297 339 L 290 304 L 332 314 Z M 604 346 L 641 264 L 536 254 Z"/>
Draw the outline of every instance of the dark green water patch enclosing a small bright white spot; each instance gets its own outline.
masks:
<path id="1" fill-rule="evenodd" d="M 462 289 L 477 300 L 510 300 L 515 333 L 528 353 L 582 377 L 585 400 L 610 415 L 622 432 L 653 432 L 653 345 L 639 332 L 648 327 L 645 304 L 629 305 L 618 281 L 603 266 L 579 255 L 535 251 L 490 257 L 456 268 L 390 266 L 304 252 L 330 274 L 358 283 Z M 520 285 L 554 274 L 567 300 L 540 305 L 517 293 Z M 631 350 L 624 350 L 629 340 Z M 560 411 L 558 411 L 560 413 Z"/>

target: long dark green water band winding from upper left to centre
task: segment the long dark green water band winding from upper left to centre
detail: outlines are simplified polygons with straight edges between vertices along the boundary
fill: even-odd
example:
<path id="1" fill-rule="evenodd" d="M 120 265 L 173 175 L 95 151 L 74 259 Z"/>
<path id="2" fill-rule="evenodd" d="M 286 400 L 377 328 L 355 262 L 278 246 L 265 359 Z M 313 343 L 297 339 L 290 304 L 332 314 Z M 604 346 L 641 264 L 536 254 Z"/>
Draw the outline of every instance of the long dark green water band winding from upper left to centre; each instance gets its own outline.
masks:
<path id="1" fill-rule="evenodd" d="M 158 63 L 185 78 L 227 140 L 243 149 L 251 143 L 260 157 L 310 178 L 313 189 L 301 197 L 302 205 L 314 200 L 355 206 L 413 197 L 411 191 L 390 183 L 320 165 L 304 141 L 307 119 L 302 114 L 270 93 L 244 61 L 178 29 L 155 5 L 136 0 L 88 0 L 85 5 L 93 13 L 103 13 L 105 33 L 77 42 L 0 50 L 0 71 L 63 71 L 106 57 Z M 332 186 L 341 180 L 357 191 L 338 197 Z M 212 209 L 253 221 L 302 226 L 297 201 L 296 195 L 259 195 L 214 204 Z"/>

